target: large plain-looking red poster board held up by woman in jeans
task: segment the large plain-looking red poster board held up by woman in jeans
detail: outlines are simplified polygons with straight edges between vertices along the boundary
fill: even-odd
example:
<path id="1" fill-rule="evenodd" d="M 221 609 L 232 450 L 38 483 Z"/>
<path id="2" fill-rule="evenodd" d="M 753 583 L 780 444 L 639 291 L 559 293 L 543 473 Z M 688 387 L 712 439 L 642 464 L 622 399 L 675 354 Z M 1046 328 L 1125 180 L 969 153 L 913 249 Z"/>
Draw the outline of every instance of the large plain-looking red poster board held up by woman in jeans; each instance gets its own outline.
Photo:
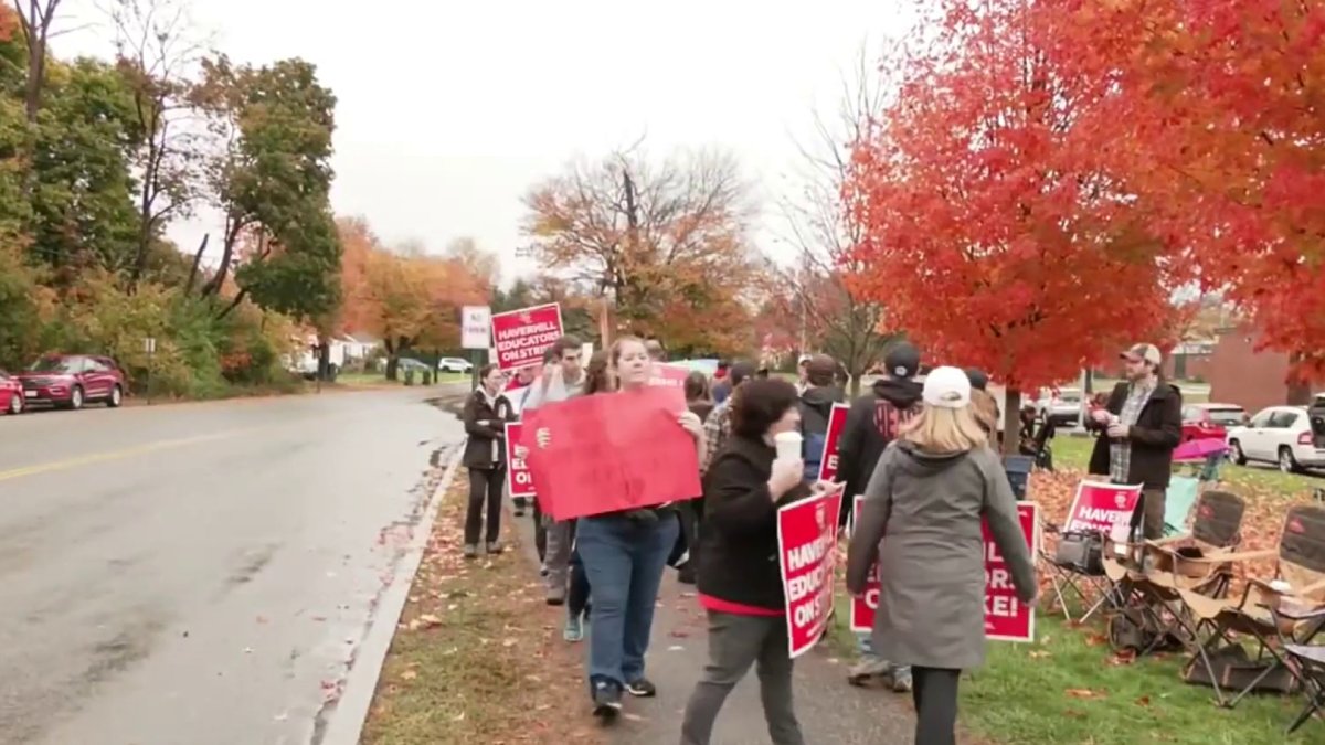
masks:
<path id="1" fill-rule="evenodd" d="M 525 412 L 521 444 L 539 509 L 571 520 L 698 497 L 700 459 L 678 414 L 672 394 L 655 387 Z"/>

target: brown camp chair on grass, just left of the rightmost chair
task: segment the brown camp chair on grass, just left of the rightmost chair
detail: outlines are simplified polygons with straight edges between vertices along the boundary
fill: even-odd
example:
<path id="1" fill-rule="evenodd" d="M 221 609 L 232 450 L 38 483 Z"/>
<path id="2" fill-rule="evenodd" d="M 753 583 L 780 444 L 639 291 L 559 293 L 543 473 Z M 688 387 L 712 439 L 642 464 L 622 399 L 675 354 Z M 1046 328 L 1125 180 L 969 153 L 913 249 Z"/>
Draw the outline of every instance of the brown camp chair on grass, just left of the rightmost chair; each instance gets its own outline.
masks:
<path id="1" fill-rule="evenodd" d="M 1120 611 L 1109 620 L 1114 650 L 1132 648 L 1141 656 L 1166 646 L 1181 646 L 1199 654 L 1203 624 L 1186 612 L 1182 593 L 1224 598 L 1232 575 L 1224 563 L 1187 559 L 1232 551 L 1242 542 L 1244 513 L 1242 497 L 1206 492 L 1196 504 L 1190 536 L 1146 541 L 1140 558 L 1130 565 L 1118 561 L 1106 566 L 1114 582 L 1110 595 Z"/>

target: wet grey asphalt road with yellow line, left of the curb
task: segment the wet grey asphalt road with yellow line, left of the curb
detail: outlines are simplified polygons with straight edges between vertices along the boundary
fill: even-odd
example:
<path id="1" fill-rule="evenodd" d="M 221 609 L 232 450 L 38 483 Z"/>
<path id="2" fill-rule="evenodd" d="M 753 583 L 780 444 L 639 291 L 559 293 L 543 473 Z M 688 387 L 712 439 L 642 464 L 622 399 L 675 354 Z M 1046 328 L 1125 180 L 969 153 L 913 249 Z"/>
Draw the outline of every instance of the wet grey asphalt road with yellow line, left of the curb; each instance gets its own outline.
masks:
<path id="1" fill-rule="evenodd" d="M 313 741 L 462 437 L 424 395 L 0 418 L 0 742 Z"/>

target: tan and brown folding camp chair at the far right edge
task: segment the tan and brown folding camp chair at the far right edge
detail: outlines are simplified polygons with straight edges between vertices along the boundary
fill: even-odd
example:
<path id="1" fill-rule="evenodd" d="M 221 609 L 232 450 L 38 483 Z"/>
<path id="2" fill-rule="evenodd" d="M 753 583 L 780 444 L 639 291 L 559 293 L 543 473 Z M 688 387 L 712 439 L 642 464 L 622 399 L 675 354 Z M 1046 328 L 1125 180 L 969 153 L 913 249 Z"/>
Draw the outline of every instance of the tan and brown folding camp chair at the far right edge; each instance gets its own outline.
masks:
<path id="1" fill-rule="evenodd" d="M 1325 614 L 1310 610 L 1325 603 L 1325 508 L 1292 508 L 1284 520 L 1277 549 L 1211 559 L 1231 565 L 1276 555 L 1273 579 L 1249 578 L 1234 599 L 1181 593 L 1192 616 L 1212 628 L 1200 654 L 1189 661 L 1185 675 L 1189 681 L 1210 683 L 1223 707 L 1236 707 L 1243 696 L 1256 689 L 1287 692 L 1301 685 L 1300 671 L 1287 664 L 1281 650 L 1288 644 L 1309 644 L 1325 631 Z M 1302 607 L 1308 610 L 1302 611 Z M 1247 655 L 1239 636 L 1256 640 L 1255 656 Z M 1214 659 L 1219 659 L 1220 665 L 1215 665 Z M 1194 667 L 1198 661 L 1203 669 Z M 1224 700 L 1220 685 L 1238 693 Z"/>

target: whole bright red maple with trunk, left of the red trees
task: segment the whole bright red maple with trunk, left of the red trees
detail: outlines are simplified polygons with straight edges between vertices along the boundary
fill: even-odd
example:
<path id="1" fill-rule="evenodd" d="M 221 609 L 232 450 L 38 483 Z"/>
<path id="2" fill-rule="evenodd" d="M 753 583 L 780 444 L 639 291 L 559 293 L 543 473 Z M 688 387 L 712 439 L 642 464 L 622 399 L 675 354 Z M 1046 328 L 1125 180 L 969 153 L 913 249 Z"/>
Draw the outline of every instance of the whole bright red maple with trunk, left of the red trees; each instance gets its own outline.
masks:
<path id="1" fill-rule="evenodd" d="M 1008 431 L 1022 391 L 1175 330 L 1187 270 L 1084 131 L 1110 81 L 1055 69 L 1040 33 L 1071 19 L 1036 8 L 945 1 L 843 190 L 865 227 L 853 289 L 937 362 L 1006 384 Z"/>

